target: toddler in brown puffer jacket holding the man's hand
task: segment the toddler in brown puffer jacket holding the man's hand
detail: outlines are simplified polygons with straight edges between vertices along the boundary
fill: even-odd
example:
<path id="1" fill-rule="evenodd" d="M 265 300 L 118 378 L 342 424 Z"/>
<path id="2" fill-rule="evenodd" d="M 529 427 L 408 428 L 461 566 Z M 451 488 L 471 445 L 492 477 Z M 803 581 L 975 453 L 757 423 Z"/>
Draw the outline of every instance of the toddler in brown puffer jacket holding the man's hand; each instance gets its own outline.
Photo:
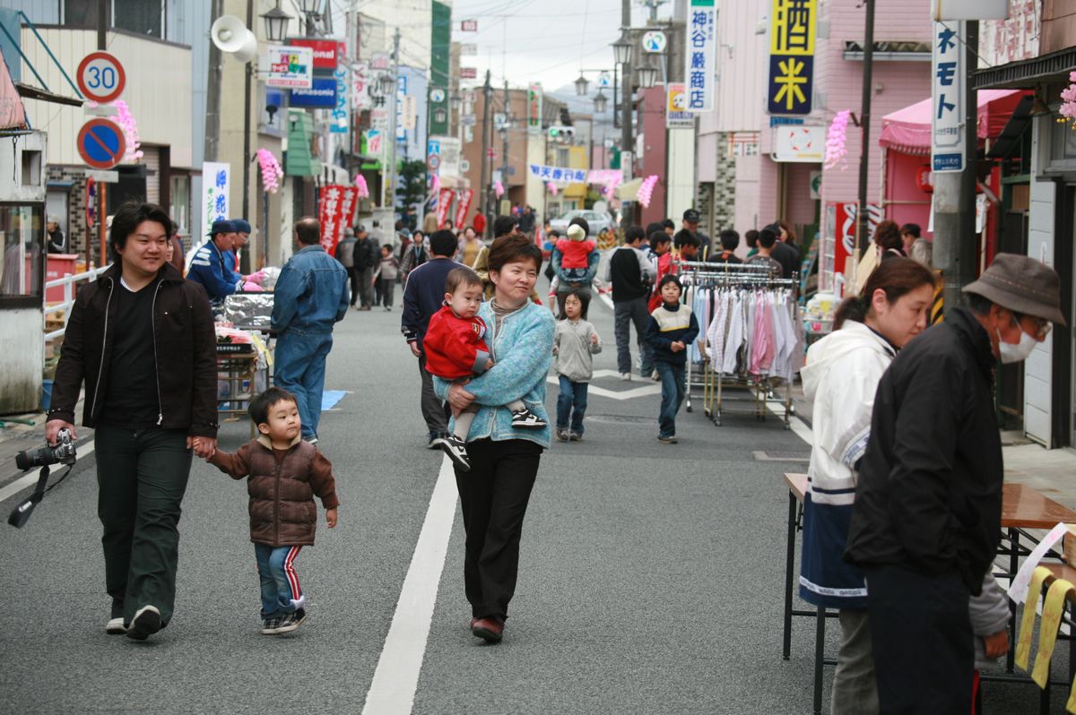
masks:
<path id="1" fill-rule="evenodd" d="M 207 461 L 233 480 L 246 480 L 251 542 L 261 581 L 261 632 L 274 635 L 294 631 L 307 618 L 295 559 L 303 546 L 314 545 L 314 497 L 322 500 L 330 529 L 337 525 L 340 499 L 332 464 L 302 439 L 294 395 L 270 387 L 251 400 L 250 414 L 257 439 L 235 453 L 214 449 Z"/>

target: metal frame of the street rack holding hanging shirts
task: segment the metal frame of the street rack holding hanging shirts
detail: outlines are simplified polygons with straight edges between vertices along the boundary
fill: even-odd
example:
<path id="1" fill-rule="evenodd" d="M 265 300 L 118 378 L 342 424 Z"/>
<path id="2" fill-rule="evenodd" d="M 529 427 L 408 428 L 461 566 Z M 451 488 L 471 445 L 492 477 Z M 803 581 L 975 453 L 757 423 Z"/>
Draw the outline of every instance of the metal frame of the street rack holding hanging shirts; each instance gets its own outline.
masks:
<path id="1" fill-rule="evenodd" d="M 681 282 L 695 288 L 731 288 L 742 287 L 755 290 L 788 290 L 791 296 L 791 304 L 795 305 L 799 282 L 796 277 L 775 278 L 769 274 L 769 269 L 761 264 L 747 263 L 710 263 L 700 261 L 677 261 L 677 266 L 689 269 L 689 272 L 681 273 Z M 775 380 L 784 380 L 784 428 L 791 429 L 792 406 L 792 383 L 782 376 L 776 375 L 726 375 L 720 370 L 713 369 L 709 356 L 707 355 L 706 333 L 709 326 L 699 325 L 703 337 L 698 341 L 703 352 L 702 381 L 692 382 L 693 361 L 688 360 L 686 375 L 686 411 L 692 411 L 692 386 L 703 387 L 703 411 L 718 427 L 722 424 L 724 413 L 724 400 L 726 388 L 746 388 L 752 402 L 752 412 L 755 419 L 764 421 L 766 418 L 766 402 L 773 399 L 773 383 Z"/>

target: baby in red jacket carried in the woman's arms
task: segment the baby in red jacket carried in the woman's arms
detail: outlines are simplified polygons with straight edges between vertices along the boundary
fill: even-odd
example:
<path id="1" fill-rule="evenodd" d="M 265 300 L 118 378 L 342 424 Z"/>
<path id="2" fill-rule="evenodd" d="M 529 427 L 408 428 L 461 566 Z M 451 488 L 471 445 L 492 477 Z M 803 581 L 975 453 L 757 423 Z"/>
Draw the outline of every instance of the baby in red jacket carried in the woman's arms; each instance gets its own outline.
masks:
<path id="1" fill-rule="evenodd" d="M 452 270 L 444 282 L 444 308 L 429 318 L 422 348 L 426 354 L 426 371 L 443 380 L 466 381 L 494 366 L 485 342 L 485 321 L 478 316 L 482 304 L 482 280 L 469 268 Z M 523 400 L 505 405 L 512 411 L 512 427 L 543 429 L 546 421 L 533 413 Z M 459 468 L 470 470 L 467 458 L 467 434 L 478 405 L 471 404 L 456 415 L 453 433 L 441 442 L 441 448 Z"/>

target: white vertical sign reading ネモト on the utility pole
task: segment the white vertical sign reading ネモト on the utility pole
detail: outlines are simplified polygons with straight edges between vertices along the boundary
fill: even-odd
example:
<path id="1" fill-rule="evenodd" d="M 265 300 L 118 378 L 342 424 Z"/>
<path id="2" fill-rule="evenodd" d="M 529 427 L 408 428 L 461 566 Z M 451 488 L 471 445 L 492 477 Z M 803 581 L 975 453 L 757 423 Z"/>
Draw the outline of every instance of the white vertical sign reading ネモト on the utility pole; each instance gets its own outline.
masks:
<path id="1" fill-rule="evenodd" d="M 931 52 L 931 168 L 964 170 L 964 23 L 934 23 Z"/>

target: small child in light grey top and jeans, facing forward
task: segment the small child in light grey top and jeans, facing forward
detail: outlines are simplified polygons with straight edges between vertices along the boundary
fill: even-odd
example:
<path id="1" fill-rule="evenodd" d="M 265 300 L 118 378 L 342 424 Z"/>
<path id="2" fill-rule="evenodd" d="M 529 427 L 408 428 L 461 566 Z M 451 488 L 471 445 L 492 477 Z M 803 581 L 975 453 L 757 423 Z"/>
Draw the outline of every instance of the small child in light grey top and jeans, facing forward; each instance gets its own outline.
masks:
<path id="1" fill-rule="evenodd" d="M 564 313 L 553 332 L 553 355 L 561 392 L 556 397 L 556 439 L 582 442 L 586 392 L 594 377 L 594 356 L 601 352 L 601 338 L 586 319 L 590 299 L 582 291 L 568 294 Z"/>

